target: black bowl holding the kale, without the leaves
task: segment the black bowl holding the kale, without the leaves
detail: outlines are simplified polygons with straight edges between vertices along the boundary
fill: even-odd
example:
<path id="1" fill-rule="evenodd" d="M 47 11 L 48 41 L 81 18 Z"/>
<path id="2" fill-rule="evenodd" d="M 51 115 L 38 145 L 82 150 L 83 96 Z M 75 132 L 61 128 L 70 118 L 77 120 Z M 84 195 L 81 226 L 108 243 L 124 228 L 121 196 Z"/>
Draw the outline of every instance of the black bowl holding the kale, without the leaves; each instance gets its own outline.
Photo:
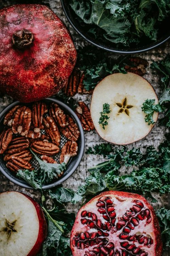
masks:
<path id="1" fill-rule="evenodd" d="M 90 37 L 90 33 L 85 31 L 85 27 L 89 25 L 84 23 L 85 26 L 82 26 L 82 24 L 80 24 L 78 16 L 74 13 L 71 6 L 69 5 L 69 0 L 61 0 L 61 4 L 68 21 L 70 22 L 72 27 L 75 29 L 75 31 L 77 31 L 87 42 L 109 52 L 123 53 L 123 54 L 147 52 L 151 49 L 154 49 L 160 46 L 161 44 L 165 43 L 168 39 L 170 39 L 170 30 L 166 25 L 169 23 L 165 21 L 165 24 L 163 22 L 162 28 L 160 29 L 160 33 L 158 34 L 158 39 L 156 41 L 149 42 L 149 40 L 147 40 L 146 38 L 145 40 L 142 40 L 139 45 L 135 44 L 132 47 L 125 47 L 125 46 L 116 47 L 114 43 L 111 43 L 109 41 L 102 42 L 102 40 L 98 41 L 97 39 Z M 148 41 L 148 43 L 146 41 Z"/>

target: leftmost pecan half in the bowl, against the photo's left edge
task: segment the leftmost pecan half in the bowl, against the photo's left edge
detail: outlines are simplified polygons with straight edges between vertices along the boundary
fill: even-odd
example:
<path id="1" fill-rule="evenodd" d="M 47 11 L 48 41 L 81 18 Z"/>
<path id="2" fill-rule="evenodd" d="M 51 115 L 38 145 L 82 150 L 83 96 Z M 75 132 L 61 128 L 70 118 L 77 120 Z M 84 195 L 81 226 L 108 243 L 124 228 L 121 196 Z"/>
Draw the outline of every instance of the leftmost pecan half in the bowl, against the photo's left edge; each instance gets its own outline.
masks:
<path id="1" fill-rule="evenodd" d="M 0 154 L 3 154 L 7 150 L 8 145 L 12 141 L 12 130 L 9 128 L 6 131 L 0 133 Z"/>

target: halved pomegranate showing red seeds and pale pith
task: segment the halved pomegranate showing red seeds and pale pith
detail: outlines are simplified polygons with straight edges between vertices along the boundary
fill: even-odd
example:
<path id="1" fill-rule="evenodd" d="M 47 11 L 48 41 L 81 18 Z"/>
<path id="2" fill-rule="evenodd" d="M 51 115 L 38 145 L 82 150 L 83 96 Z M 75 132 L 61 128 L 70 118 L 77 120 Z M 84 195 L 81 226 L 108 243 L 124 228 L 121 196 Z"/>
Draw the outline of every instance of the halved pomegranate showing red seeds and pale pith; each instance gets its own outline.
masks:
<path id="1" fill-rule="evenodd" d="M 78 212 L 73 256 L 160 256 L 162 241 L 152 206 L 138 194 L 107 191 Z"/>

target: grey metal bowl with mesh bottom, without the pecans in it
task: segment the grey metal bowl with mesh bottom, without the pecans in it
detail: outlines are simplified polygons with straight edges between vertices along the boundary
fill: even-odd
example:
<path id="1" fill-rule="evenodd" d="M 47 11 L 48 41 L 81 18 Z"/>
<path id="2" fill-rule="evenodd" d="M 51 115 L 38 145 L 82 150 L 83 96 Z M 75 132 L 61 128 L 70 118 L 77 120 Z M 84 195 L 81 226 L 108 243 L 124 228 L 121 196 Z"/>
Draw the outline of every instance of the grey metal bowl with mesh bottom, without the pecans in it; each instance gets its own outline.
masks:
<path id="1" fill-rule="evenodd" d="M 83 156 L 83 152 L 84 152 L 84 131 L 83 131 L 80 120 L 77 117 L 77 115 L 65 103 L 61 102 L 60 100 L 51 99 L 51 98 L 47 98 L 43 101 L 46 102 L 47 105 L 49 105 L 52 102 L 57 103 L 60 106 L 60 108 L 64 110 L 64 112 L 66 114 L 69 114 L 74 119 L 75 123 L 78 125 L 79 130 L 80 130 L 80 138 L 77 141 L 77 143 L 78 143 L 78 154 L 77 154 L 77 156 L 74 156 L 74 157 L 70 158 L 70 160 L 69 160 L 69 162 L 66 166 L 66 170 L 64 171 L 64 174 L 59 179 L 51 182 L 50 184 L 43 185 L 43 189 L 47 189 L 47 188 L 55 187 L 55 186 L 61 184 L 63 181 L 68 179 L 68 177 L 77 169 L 77 167 L 78 167 L 78 165 L 81 161 L 81 158 Z M 0 132 L 4 128 L 3 119 L 4 119 L 5 114 L 17 104 L 22 104 L 22 103 L 19 103 L 18 101 L 16 101 L 16 102 L 12 103 L 11 105 L 9 105 L 5 110 L 3 110 L 1 112 L 1 114 L 0 114 Z M 25 104 L 24 103 L 24 105 L 29 106 L 30 104 Z M 62 146 L 66 143 L 66 141 L 68 141 L 67 138 L 62 135 L 61 136 L 60 148 L 62 148 Z M 59 156 L 60 156 L 60 152 L 56 156 L 52 156 L 52 157 L 57 162 L 59 162 L 58 161 Z M 32 166 L 35 169 L 37 169 L 39 167 L 38 162 L 35 160 L 35 158 L 33 158 L 33 160 L 31 160 L 30 163 L 32 164 Z M 17 177 L 15 173 L 10 171 L 6 167 L 6 162 L 3 160 L 3 155 L 0 155 L 0 170 L 10 181 L 16 183 L 17 185 L 20 185 L 20 186 L 25 187 L 25 188 L 30 188 L 30 189 L 32 188 L 26 181 L 24 181 L 22 179 L 19 179 L 19 177 Z"/>

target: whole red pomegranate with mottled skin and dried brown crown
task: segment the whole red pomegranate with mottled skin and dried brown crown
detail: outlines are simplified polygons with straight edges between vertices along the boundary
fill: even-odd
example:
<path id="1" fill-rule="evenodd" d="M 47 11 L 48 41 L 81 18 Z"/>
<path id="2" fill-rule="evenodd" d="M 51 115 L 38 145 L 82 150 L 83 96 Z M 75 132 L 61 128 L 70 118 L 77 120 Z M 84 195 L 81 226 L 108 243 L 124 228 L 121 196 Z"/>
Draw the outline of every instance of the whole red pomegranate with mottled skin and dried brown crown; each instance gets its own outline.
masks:
<path id="1" fill-rule="evenodd" d="M 0 90 L 21 102 L 51 96 L 65 86 L 76 49 L 63 22 L 45 5 L 0 10 Z"/>

